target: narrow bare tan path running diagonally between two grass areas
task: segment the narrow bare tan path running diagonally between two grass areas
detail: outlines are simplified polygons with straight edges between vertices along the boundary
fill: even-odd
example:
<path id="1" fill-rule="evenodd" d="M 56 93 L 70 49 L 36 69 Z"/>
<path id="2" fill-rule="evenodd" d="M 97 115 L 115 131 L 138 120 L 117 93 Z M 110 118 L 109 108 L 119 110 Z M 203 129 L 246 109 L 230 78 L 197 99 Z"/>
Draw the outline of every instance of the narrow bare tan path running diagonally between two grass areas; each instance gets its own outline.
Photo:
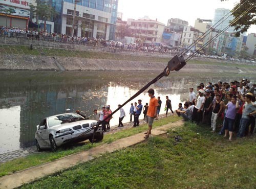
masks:
<path id="1" fill-rule="evenodd" d="M 153 129 L 152 134 L 153 136 L 164 134 L 167 132 L 168 129 L 174 128 L 174 127 L 180 127 L 182 125 L 183 125 L 182 121 L 169 123 Z M 111 132 L 114 132 L 114 129 Z M 29 183 L 39 178 L 42 178 L 46 175 L 52 175 L 61 170 L 74 167 L 76 164 L 87 162 L 89 160 L 92 160 L 96 157 L 101 156 L 103 153 L 111 153 L 123 148 L 136 145 L 138 143 L 141 143 L 143 140 L 145 140 L 143 136 L 144 136 L 144 133 L 142 132 L 133 136 L 121 138 L 114 141 L 111 144 L 103 144 L 101 146 L 92 148 L 88 151 L 69 155 L 49 163 L 44 163 L 39 166 L 35 166 L 23 171 L 16 172 L 11 175 L 1 177 L 0 188 L 15 188 L 25 183 Z"/>

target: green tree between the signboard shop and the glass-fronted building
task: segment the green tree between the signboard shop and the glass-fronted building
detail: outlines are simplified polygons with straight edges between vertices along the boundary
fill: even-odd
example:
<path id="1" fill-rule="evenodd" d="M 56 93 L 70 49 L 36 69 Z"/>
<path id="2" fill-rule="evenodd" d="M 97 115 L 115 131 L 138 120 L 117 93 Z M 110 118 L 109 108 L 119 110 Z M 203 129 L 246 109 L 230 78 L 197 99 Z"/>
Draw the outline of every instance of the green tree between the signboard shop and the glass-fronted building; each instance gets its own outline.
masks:
<path id="1" fill-rule="evenodd" d="M 32 13 L 32 18 L 36 18 L 36 23 L 38 24 L 38 19 L 46 20 L 51 19 L 56 16 L 58 13 L 55 11 L 53 7 L 49 5 L 48 2 L 43 2 L 41 0 L 35 0 L 36 6 L 30 4 L 30 11 Z M 44 31 L 46 27 L 44 27 Z"/>

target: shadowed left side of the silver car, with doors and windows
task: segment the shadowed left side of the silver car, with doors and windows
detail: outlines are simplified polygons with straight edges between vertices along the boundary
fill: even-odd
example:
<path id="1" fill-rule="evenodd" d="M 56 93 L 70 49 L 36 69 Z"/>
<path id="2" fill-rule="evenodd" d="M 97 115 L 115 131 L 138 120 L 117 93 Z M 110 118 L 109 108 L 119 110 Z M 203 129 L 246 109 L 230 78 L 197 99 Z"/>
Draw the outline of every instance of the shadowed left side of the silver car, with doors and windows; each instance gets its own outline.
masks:
<path id="1" fill-rule="evenodd" d="M 42 120 L 41 123 L 39 124 L 38 130 L 36 132 L 36 136 L 37 136 L 36 137 L 37 141 L 41 148 L 50 147 L 47 119 Z"/>

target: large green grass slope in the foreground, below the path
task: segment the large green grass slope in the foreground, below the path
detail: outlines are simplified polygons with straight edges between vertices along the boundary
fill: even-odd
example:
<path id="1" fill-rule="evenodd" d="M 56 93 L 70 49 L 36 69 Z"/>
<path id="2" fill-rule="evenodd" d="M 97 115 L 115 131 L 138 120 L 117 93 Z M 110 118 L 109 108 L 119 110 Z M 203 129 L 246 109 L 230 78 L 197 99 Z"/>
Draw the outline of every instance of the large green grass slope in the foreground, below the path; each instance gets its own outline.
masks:
<path id="1" fill-rule="evenodd" d="M 22 188 L 255 188 L 255 141 L 188 123 Z"/>

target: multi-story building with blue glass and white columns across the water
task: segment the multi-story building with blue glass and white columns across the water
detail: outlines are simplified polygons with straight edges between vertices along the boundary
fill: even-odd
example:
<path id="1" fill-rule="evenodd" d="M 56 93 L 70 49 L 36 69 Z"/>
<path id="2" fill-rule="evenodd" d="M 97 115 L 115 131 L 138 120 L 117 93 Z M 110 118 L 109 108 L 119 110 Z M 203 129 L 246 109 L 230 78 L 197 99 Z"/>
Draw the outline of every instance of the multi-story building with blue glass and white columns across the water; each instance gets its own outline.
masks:
<path id="1" fill-rule="evenodd" d="M 55 9 L 54 32 L 115 39 L 118 0 L 43 0 Z M 74 15 L 75 9 L 75 17 Z M 74 21 L 74 23 L 73 23 Z"/>

